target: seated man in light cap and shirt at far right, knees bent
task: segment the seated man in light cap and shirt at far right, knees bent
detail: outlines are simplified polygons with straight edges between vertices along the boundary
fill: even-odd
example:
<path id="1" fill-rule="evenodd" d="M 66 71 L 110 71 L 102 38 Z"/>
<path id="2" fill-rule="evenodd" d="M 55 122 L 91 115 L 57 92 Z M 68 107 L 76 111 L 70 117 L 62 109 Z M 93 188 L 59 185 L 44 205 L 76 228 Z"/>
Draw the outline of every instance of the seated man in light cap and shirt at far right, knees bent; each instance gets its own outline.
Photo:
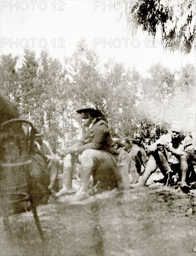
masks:
<path id="1" fill-rule="evenodd" d="M 164 178 L 160 180 L 166 184 L 170 170 L 179 170 L 181 175 L 181 189 L 189 190 L 186 183 L 189 156 L 194 154 L 193 141 L 189 136 L 184 136 L 180 123 L 173 122 L 170 134 L 162 135 L 148 148 L 150 155 L 142 179 L 131 184 L 131 188 L 144 186 L 150 174 L 160 168 Z"/>

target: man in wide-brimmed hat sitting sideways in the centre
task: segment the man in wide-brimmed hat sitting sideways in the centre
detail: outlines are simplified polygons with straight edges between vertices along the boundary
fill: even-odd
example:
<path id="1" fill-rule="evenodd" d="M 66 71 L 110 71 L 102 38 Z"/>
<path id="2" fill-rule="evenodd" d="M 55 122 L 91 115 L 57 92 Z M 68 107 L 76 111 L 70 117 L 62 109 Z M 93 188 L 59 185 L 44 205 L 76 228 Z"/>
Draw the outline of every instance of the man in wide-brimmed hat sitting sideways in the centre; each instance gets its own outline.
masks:
<path id="1" fill-rule="evenodd" d="M 77 110 L 83 121 L 82 138 L 70 148 L 65 148 L 63 188 L 56 194 L 61 196 L 73 193 L 72 176 L 74 163 L 81 154 L 81 186 L 73 200 L 83 200 L 88 197 L 89 180 L 93 179 L 107 188 L 114 189 L 122 186 L 117 181 L 117 159 L 112 153 L 112 139 L 108 124 L 102 113 L 87 102 Z M 122 173 L 122 175 L 124 175 Z M 128 175 L 128 174 L 127 174 Z M 122 181 L 125 179 L 122 178 Z"/>

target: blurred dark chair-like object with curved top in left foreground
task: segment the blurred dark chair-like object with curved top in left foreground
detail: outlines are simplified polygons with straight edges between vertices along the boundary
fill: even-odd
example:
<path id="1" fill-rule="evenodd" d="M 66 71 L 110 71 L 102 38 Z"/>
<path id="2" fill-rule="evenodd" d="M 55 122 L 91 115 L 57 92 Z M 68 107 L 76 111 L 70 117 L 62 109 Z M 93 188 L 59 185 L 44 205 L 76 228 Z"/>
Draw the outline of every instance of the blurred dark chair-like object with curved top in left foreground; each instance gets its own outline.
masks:
<path id="1" fill-rule="evenodd" d="M 35 129 L 19 119 L 17 108 L 0 95 L 0 216 L 10 230 L 9 216 L 30 205 L 39 235 L 44 240 L 36 210 L 33 182 L 33 143 Z M 26 202 L 29 202 L 26 204 Z"/>

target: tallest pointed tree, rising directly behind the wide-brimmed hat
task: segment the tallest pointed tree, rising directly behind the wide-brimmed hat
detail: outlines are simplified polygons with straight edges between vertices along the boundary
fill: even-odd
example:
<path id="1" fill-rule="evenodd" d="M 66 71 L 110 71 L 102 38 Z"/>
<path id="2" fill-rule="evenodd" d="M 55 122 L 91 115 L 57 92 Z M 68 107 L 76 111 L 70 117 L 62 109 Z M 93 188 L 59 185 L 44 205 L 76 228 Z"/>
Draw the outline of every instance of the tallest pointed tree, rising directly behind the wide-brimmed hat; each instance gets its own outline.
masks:
<path id="1" fill-rule="evenodd" d="M 81 107 L 85 101 L 91 101 L 98 107 L 103 105 L 105 92 L 96 81 L 96 77 L 99 75 L 98 65 L 97 54 L 94 49 L 87 47 L 84 38 L 77 42 L 73 54 L 65 59 L 66 98 L 64 99 L 65 111 L 64 115 L 61 115 L 61 121 L 65 130 L 64 138 L 68 142 L 78 137 L 80 131 L 76 109 Z"/>

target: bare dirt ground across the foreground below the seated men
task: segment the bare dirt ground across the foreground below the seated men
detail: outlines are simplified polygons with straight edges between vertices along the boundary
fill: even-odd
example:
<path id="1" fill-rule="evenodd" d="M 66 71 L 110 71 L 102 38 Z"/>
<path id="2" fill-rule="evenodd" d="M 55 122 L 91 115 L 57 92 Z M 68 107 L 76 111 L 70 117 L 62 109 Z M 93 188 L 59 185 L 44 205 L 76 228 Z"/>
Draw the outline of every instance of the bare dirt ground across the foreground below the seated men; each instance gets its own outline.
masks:
<path id="1" fill-rule="evenodd" d="M 39 206 L 45 244 L 32 212 L 10 216 L 13 234 L 1 225 L 0 255 L 196 256 L 196 190 L 151 185 L 125 190 L 124 199 L 114 192 Z"/>

